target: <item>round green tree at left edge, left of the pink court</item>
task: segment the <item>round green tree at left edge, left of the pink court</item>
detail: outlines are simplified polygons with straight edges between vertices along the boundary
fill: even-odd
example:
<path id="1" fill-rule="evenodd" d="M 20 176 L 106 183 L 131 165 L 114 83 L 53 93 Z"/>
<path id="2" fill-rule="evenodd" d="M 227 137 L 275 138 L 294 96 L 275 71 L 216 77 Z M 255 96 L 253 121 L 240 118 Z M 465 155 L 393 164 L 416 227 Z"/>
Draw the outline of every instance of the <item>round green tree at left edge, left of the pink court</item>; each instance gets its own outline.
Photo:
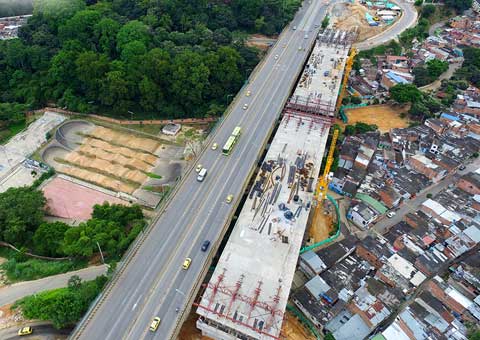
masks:
<path id="1" fill-rule="evenodd" d="M 10 188 L 1 193 L 0 239 L 16 247 L 25 246 L 42 223 L 45 204 L 43 193 L 28 187 Z"/>

